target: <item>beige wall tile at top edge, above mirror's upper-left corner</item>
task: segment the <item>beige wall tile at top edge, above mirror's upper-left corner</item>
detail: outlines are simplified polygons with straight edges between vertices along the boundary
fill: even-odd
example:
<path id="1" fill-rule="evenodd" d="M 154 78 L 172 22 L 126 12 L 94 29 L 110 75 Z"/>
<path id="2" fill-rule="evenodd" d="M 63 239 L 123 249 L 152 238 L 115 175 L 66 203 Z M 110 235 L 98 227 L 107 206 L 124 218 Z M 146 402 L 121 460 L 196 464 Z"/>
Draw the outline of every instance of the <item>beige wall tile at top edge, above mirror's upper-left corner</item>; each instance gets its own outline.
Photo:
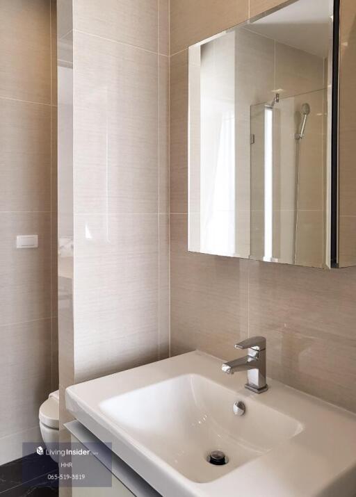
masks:
<path id="1" fill-rule="evenodd" d="M 209 38 L 248 18 L 248 0 L 171 0 L 170 53 Z"/>

